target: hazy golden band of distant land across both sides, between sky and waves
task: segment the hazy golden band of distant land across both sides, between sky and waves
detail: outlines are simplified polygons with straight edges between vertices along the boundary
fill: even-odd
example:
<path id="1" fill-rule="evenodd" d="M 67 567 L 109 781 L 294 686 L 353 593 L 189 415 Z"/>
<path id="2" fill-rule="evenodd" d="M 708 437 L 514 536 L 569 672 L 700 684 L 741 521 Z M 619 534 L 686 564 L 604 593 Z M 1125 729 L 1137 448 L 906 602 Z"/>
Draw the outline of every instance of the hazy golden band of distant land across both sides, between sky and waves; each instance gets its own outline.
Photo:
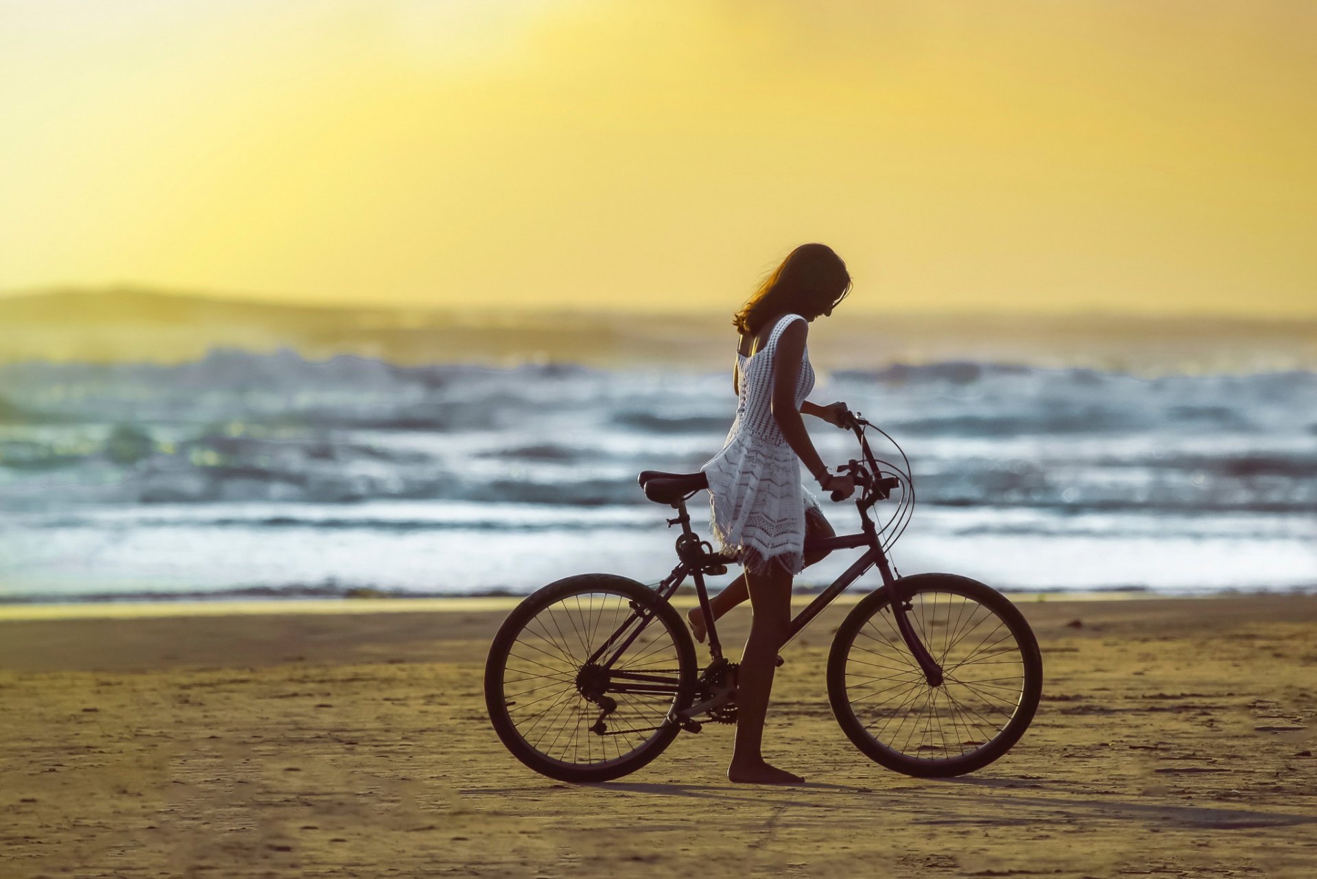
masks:
<path id="1" fill-rule="evenodd" d="M 811 328 L 824 369 L 947 360 L 1131 372 L 1317 368 L 1317 320 L 1126 315 L 865 315 Z M 0 297 L 0 362 L 196 360 L 213 348 L 399 364 L 727 369 L 730 314 L 335 308 L 138 289 Z"/>

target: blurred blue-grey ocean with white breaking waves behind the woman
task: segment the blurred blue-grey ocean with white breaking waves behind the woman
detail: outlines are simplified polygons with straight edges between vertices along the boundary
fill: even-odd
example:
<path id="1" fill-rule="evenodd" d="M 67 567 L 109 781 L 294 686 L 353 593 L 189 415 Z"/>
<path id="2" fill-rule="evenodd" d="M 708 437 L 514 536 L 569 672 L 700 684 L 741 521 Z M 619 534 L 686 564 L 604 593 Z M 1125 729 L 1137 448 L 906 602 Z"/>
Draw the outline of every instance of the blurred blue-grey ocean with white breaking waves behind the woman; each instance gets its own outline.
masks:
<path id="1" fill-rule="evenodd" d="M 955 361 L 819 370 L 813 399 L 847 402 L 909 456 L 902 573 L 1058 593 L 1317 588 L 1317 373 Z M 676 531 L 636 474 L 698 469 L 734 409 L 726 370 L 291 349 L 0 365 L 0 601 L 656 582 Z M 806 420 L 826 460 L 856 456 L 849 434 Z M 881 438 L 874 451 L 896 455 Z M 853 505 L 823 506 L 857 528 Z M 690 507 L 707 536 L 705 496 Z"/>

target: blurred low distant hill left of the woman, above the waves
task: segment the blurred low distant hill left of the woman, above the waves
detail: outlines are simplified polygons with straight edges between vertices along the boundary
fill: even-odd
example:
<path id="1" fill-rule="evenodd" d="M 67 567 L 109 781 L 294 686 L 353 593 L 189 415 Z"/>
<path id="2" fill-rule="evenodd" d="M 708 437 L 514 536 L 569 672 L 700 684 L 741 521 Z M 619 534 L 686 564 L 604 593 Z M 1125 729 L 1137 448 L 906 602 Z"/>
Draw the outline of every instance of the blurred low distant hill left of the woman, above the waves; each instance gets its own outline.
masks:
<path id="1" fill-rule="evenodd" d="M 311 357 L 356 353 L 394 362 L 685 360 L 730 327 L 618 314 L 336 308 L 165 294 L 59 290 L 0 298 L 0 361 L 194 360 L 212 348 L 294 348 Z M 726 347 L 726 345 L 724 345 Z"/>

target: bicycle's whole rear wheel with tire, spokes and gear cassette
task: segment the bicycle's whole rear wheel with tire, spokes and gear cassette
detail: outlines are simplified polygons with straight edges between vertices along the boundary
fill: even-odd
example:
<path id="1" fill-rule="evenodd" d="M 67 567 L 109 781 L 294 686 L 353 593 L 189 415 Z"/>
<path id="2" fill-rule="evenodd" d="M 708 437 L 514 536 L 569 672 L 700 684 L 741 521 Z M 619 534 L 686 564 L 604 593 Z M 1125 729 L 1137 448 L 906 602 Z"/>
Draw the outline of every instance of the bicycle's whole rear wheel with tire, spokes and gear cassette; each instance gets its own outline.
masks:
<path id="1" fill-rule="evenodd" d="M 649 619 L 627 643 L 641 614 Z M 558 580 L 518 605 L 485 666 L 499 739 L 561 781 L 606 781 L 649 763 L 680 731 L 669 712 L 694 691 L 695 647 L 677 611 L 605 573 Z"/>

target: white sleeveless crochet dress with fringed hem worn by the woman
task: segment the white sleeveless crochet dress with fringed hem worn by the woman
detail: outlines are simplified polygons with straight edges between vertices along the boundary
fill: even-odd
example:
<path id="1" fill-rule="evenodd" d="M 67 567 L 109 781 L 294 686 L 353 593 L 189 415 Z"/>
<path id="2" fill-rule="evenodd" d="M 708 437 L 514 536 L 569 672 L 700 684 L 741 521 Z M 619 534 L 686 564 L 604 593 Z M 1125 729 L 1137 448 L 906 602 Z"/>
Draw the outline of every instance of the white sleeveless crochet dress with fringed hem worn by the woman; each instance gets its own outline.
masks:
<path id="1" fill-rule="evenodd" d="M 709 476 L 714 536 L 723 552 L 739 555 L 745 568 L 764 573 L 772 565 L 795 575 L 803 568 L 805 509 L 818 507 L 801 484 L 801 459 L 786 444 L 773 418 L 773 357 L 782 331 L 801 315 L 785 315 L 768 341 L 747 357 L 736 353 L 740 387 L 736 419 L 723 449 L 701 470 Z M 814 390 L 809 348 L 795 378 L 795 407 Z"/>

